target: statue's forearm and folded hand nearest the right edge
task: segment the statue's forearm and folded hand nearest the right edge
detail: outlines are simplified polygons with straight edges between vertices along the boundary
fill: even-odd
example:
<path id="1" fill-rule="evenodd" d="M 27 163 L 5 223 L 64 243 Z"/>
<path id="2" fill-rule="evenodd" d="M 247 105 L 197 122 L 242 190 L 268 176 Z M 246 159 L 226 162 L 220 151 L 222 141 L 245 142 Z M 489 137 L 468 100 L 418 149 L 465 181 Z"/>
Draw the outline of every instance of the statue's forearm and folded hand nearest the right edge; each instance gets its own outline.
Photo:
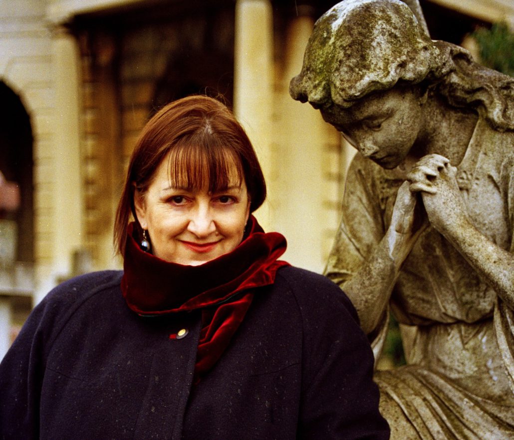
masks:
<path id="1" fill-rule="evenodd" d="M 456 168 L 439 155 L 422 158 L 409 174 L 412 192 L 421 193 L 431 225 L 514 309 L 514 255 L 473 225 L 455 178 Z"/>

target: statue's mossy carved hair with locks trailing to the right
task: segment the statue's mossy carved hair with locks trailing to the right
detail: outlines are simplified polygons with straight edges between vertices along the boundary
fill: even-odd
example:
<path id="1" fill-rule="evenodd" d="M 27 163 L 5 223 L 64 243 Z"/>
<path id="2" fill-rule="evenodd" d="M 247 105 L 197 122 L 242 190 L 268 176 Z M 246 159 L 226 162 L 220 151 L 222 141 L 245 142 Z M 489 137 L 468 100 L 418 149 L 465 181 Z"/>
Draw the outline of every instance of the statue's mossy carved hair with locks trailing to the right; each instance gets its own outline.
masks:
<path id="1" fill-rule="evenodd" d="M 289 91 L 316 108 L 344 108 L 397 84 L 424 84 L 496 129 L 514 129 L 514 80 L 459 46 L 432 41 L 400 0 L 345 0 L 327 11 Z"/>

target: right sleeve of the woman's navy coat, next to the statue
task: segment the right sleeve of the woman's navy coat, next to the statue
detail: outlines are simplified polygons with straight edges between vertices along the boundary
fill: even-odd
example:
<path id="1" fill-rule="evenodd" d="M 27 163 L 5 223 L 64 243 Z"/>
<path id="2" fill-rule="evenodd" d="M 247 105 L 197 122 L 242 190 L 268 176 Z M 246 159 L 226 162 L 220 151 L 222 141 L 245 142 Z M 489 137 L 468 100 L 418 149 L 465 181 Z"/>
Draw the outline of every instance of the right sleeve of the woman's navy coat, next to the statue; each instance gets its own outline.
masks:
<path id="1" fill-rule="evenodd" d="M 301 304 L 304 354 L 299 437 L 389 438 L 389 426 L 378 410 L 373 352 L 352 303 L 327 279 L 308 288 L 308 303 Z"/>

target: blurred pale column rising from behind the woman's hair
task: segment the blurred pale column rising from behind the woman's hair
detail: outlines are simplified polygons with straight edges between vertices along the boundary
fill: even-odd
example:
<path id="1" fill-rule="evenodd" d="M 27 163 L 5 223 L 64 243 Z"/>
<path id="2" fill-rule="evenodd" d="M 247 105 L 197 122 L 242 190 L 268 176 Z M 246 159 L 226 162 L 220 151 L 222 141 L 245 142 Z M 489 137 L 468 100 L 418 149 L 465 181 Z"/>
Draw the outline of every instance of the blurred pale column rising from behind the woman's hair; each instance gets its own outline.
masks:
<path id="1" fill-rule="evenodd" d="M 245 127 L 271 185 L 273 107 L 273 15 L 269 0 L 237 0 L 235 6 L 234 112 Z M 265 231 L 272 223 L 273 194 L 257 217 Z"/>

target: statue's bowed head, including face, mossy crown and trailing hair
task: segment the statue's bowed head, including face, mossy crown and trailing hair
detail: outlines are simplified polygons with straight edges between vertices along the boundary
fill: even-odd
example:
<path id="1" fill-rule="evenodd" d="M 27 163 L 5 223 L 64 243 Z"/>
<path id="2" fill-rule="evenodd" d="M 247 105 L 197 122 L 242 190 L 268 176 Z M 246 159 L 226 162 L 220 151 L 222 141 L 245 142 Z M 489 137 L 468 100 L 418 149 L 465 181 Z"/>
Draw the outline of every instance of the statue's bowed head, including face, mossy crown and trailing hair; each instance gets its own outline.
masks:
<path id="1" fill-rule="evenodd" d="M 384 168 L 424 145 L 431 105 L 514 129 L 512 78 L 474 63 L 462 47 L 432 41 L 400 0 L 345 0 L 326 12 L 289 92 L 319 108 L 326 122 Z"/>

